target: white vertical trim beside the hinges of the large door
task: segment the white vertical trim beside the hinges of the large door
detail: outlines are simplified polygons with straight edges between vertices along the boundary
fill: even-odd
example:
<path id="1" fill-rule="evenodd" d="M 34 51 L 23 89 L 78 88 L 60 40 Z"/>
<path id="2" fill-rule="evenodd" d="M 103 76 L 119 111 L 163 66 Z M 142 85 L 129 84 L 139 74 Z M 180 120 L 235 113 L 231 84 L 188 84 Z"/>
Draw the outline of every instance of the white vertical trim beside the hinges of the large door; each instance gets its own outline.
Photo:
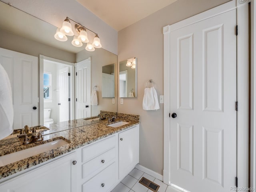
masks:
<path id="1" fill-rule="evenodd" d="M 237 178 L 238 187 L 248 187 L 249 178 L 249 32 L 248 2 L 236 9 L 238 35 L 237 47 Z"/>

